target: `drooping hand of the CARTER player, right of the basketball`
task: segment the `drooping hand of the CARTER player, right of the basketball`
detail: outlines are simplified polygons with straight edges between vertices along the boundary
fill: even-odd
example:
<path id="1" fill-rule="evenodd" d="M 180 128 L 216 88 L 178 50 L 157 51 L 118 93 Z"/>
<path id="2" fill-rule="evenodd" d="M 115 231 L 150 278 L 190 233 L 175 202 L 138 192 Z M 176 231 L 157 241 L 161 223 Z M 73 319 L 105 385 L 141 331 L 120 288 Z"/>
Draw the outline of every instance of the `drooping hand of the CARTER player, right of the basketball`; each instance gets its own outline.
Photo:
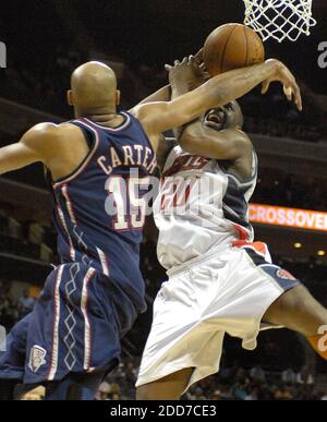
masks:
<path id="1" fill-rule="evenodd" d="M 271 61 L 271 60 L 270 60 Z M 274 60 L 275 75 L 263 82 L 262 94 L 266 94 L 272 81 L 279 81 L 283 86 L 283 93 L 289 101 L 294 101 L 298 109 L 302 111 L 301 91 L 292 72 L 278 60 Z"/>

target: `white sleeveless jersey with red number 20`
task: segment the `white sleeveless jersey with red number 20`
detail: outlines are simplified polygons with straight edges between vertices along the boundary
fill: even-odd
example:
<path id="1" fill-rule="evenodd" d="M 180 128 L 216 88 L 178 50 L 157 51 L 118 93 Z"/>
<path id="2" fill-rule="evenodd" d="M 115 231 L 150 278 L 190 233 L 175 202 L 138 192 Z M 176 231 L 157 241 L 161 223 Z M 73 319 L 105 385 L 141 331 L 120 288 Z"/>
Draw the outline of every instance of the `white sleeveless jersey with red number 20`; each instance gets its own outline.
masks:
<path id="1" fill-rule="evenodd" d="M 154 204 L 161 265 L 171 269 L 215 248 L 253 241 L 249 201 L 256 178 L 255 153 L 252 174 L 241 181 L 226 171 L 223 161 L 190 155 L 175 146 L 166 161 Z"/>

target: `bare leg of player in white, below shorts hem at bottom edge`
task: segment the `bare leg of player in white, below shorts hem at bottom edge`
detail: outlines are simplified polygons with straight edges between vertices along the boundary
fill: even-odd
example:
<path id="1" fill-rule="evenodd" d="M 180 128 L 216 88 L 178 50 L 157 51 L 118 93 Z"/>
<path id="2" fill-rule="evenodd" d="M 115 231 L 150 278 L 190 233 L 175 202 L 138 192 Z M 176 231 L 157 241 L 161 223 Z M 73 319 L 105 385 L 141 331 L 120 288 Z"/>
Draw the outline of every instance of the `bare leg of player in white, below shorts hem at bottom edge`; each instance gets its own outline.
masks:
<path id="1" fill-rule="evenodd" d="M 185 367 L 173 374 L 136 388 L 137 400 L 179 400 L 185 391 L 193 367 Z"/>

